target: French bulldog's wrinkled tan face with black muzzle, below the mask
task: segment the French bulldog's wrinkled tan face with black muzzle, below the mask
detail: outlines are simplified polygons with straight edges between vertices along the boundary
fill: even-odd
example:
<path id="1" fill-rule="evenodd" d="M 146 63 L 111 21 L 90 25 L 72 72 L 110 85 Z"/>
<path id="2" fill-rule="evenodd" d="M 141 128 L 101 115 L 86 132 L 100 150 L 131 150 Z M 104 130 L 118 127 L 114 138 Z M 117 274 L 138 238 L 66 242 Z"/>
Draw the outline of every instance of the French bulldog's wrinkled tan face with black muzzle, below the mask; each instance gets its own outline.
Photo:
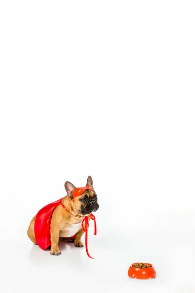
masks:
<path id="1" fill-rule="evenodd" d="M 86 190 L 83 194 L 78 196 L 80 203 L 80 213 L 82 215 L 90 214 L 99 209 L 98 196 L 93 190 Z"/>

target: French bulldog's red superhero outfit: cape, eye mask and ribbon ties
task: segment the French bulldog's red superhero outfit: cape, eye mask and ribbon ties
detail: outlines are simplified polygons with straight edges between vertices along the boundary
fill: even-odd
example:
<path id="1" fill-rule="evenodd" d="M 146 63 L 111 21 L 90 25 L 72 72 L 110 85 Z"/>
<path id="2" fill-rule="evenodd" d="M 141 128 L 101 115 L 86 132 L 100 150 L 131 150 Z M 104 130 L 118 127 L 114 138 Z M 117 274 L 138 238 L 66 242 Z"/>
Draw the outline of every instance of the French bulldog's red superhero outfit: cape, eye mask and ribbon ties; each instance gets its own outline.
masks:
<path id="1" fill-rule="evenodd" d="M 79 196 L 80 194 L 82 194 L 86 189 L 93 190 L 92 188 L 89 188 L 89 186 L 86 186 L 84 188 L 76 188 L 76 189 L 75 189 L 75 191 L 76 191 L 75 194 L 73 193 L 73 199 L 75 199 L 76 196 Z M 83 190 L 82 193 L 80 193 L 81 192 L 81 189 Z M 52 214 L 53 214 L 54 210 L 59 205 L 62 205 L 62 207 L 64 209 L 66 209 L 64 207 L 64 205 L 61 203 L 61 200 L 62 200 L 62 198 L 60 198 L 59 200 L 57 200 L 57 201 L 55 201 L 55 202 L 53 202 L 51 204 L 48 204 L 45 207 L 43 207 L 42 209 L 40 209 L 39 212 L 37 213 L 36 218 L 35 218 L 35 226 L 34 226 L 35 238 L 36 238 L 37 244 L 39 245 L 39 247 L 42 250 L 46 250 L 51 245 L 51 240 L 50 240 L 50 237 L 51 237 L 50 224 L 51 224 L 51 218 L 52 218 Z M 95 218 L 95 216 L 93 214 L 91 214 L 90 216 L 91 216 L 91 219 L 94 220 L 94 224 L 95 224 L 95 235 L 96 235 L 96 233 L 97 233 L 96 218 Z M 83 227 L 83 223 L 84 222 L 85 222 L 85 229 Z M 87 255 L 89 257 L 91 257 L 89 255 L 89 253 L 88 253 L 88 245 L 87 245 L 88 227 L 89 227 L 88 217 L 85 216 L 85 218 L 82 221 L 82 228 L 85 231 L 86 252 L 87 252 Z M 73 238 L 75 238 L 75 235 L 73 236 Z M 91 258 L 93 258 L 93 257 L 91 257 Z"/>

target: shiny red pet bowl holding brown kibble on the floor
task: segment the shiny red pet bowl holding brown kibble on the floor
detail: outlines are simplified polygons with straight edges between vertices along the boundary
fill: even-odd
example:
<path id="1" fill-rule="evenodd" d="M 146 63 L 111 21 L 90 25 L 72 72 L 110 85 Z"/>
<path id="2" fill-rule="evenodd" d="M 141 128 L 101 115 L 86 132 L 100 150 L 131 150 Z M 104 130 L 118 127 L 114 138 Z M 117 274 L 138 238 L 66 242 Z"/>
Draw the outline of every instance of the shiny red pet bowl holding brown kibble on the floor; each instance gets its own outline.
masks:
<path id="1" fill-rule="evenodd" d="M 149 263 L 147 263 L 149 264 Z M 156 270 L 153 265 L 149 264 L 151 268 L 148 269 L 140 269 L 140 268 L 134 268 L 133 266 L 136 265 L 136 263 L 132 264 L 129 267 L 128 276 L 131 279 L 139 279 L 139 280 L 148 280 L 148 279 L 155 279 L 156 278 Z"/>

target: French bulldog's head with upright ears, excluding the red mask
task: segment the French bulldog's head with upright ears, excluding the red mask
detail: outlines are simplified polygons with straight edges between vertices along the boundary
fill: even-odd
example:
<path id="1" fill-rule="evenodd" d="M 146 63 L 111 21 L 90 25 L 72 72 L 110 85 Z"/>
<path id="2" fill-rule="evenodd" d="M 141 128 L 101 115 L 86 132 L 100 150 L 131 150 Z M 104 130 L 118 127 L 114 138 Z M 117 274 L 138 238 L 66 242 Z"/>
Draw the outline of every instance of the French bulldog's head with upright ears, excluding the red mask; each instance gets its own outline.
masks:
<path id="1" fill-rule="evenodd" d="M 87 184 L 90 188 L 93 188 L 93 180 L 91 176 L 87 178 Z M 75 186 L 66 181 L 64 187 L 67 191 L 68 196 L 73 200 L 73 192 L 75 190 Z M 78 214 L 87 215 L 99 209 L 98 205 L 98 196 L 94 190 L 86 189 L 81 195 L 74 198 L 73 208 L 76 210 Z"/>

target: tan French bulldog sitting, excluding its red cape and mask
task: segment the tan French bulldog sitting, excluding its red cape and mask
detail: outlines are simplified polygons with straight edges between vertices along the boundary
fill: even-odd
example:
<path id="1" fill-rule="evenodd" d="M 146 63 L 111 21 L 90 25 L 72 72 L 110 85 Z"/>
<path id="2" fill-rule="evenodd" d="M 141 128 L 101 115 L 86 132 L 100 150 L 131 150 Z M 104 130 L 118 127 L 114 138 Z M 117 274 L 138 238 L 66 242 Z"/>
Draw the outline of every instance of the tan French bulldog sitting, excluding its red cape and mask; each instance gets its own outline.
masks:
<path id="1" fill-rule="evenodd" d="M 93 188 L 93 180 L 91 176 L 87 178 L 87 185 Z M 67 191 L 67 195 L 63 197 L 61 203 L 66 207 L 64 209 L 62 205 L 59 205 L 53 212 L 51 218 L 51 254 L 59 255 L 58 243 L 59 240 L 74 242 L 76 247 L 83 247 L 81 242 L 81 236 L 84 231 L 81 227 L 82 220 L 86 215 L 90 220 L 90 214 L 93 211 L 97 211 L 99 208 L 97 194 L 90 189 L 84 191 L 73 201 L 73 191 L 76 188 L 72 183 L 66 181 L 64 187 Z M 93 188 L 94 189 L 94 188 Z M 37 215 L 36 215 L 37 216 Z M 27 234 L 33 243 L 37 244 L 35 237 L 35 219 L 32 219 Z M 84 225 L 85 226 L 85 225 Z M 72 238 L 76 234 L 76 238 Z"/>

